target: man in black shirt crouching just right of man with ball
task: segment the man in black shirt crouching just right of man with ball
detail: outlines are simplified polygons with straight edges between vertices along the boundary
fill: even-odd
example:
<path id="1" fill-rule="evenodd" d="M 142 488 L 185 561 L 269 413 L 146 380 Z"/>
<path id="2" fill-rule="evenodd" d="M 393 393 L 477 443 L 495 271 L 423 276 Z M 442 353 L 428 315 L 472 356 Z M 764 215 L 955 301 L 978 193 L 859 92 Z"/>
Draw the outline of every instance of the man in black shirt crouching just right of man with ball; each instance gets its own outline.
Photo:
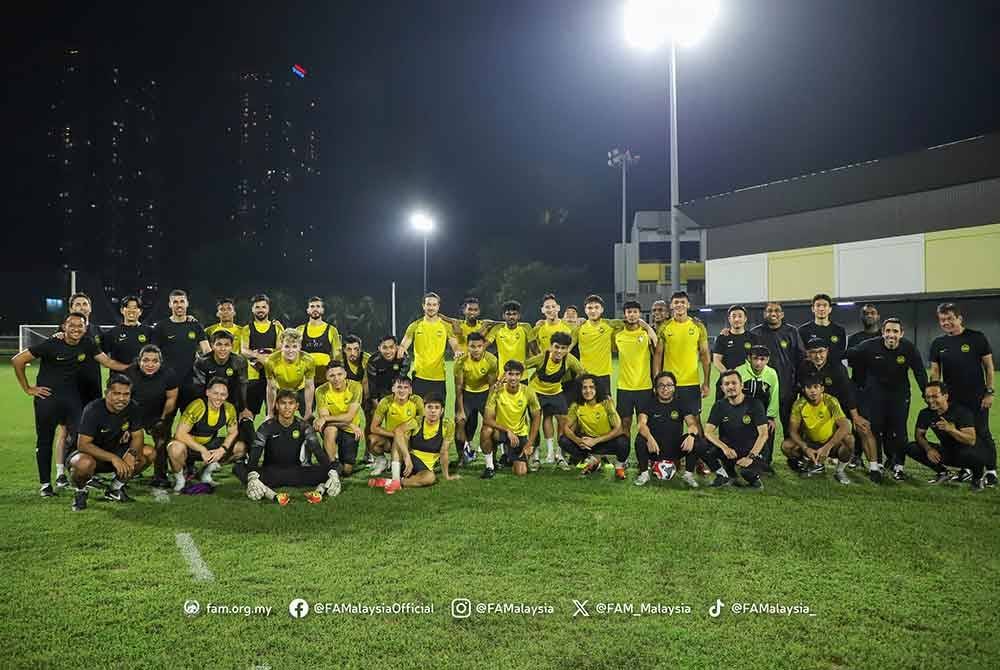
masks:
<path id="1" fill-rule="evenodd" d="M 717 473 L 711 485 L 733 484 L 739 466 L 739 474 L 751 488 L 762 489 L 760 452 L 767 443 L 767 414 L 760 402 L 743 394 L 743 379 L 736 370 L 722 373 L 722 392 L 726 397 L 712 406 L 705 424 L 705 439 L 713 448 L 702 460 Z"/>

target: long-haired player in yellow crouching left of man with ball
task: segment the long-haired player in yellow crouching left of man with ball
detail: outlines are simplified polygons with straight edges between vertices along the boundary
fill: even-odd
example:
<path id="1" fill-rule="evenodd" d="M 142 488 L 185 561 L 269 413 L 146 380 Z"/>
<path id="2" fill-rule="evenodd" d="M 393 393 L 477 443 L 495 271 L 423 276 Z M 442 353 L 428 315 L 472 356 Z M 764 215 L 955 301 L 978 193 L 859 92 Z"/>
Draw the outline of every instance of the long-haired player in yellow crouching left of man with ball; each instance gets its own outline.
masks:
<path id="1" fill-rule="evenodd" d="M 569 407 L 559 446 L 569 453 L 571 463 L 586 459 L 584 475 L 596 472 L 601 466 L 599 454 L 614 454 L 615 478 L 625 479 L 628 438 L 622 433 L 622 422 L 611 396 L 601 393 L 597 375 L 587 373 L 577 380 L 576 402 Z"/>

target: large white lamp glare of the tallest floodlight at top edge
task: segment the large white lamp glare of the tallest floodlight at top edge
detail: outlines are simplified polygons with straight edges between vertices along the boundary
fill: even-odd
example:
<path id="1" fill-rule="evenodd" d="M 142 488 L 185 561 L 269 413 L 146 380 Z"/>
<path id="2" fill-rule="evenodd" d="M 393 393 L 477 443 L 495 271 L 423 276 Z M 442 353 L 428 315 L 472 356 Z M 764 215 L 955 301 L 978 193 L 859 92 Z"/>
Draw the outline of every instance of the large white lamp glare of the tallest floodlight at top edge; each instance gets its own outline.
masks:
<path id="1" fill-rule="evenodd" d="M 625 38 L 647 50 L 671 40 L 690 46 L 704 37 L 718 13 L 717 0 L 629 0 Z"/>

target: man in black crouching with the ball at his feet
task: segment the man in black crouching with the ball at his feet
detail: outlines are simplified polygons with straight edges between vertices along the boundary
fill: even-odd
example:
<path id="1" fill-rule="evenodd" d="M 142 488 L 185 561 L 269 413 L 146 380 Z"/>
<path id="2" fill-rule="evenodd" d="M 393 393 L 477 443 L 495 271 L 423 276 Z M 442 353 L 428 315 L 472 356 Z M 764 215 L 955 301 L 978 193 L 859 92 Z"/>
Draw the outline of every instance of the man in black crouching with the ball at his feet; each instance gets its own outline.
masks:
<path id="1" fill-rule="evenodd" d="M 698 488 L 694 471 L 698 459 L 706 455 L 707 445 L 701 439 L 698 421 L 691 411 L 677 402 L 677 378 L 664 370 L 654 380 L 656 394 L 639 412 L 639 434 L 635 438 L 635 455 L 639 461 L 636 486 L 649 483 L 650 454 L 656 460 L 679 463 L 684 459 L 681 478 L 689 487 Z"/>

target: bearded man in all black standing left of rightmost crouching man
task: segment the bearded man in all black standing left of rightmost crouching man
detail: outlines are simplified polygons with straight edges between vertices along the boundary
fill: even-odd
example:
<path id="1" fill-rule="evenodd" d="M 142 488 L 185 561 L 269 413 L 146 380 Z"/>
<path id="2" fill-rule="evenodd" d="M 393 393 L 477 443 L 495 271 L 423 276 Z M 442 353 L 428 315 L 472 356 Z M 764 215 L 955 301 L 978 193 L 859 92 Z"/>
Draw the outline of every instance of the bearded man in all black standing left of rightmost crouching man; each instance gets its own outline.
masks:
<path id="1" fill-rule="evenodd" d="M 848 349 L 847 360 L 865 380 L 860 390 L 862 415 L 871 423 L 872 435 L 885 447 L 893 479 L 902 480 L 903 452 L 909 441 L 906 422 L 910 416 L 910 371 L 921 392 L 927 386 L 927 370 L 920 352 L 903 338 L 903 324 L 892 317 L 882 324 L 882 337 Z M 872 450 L 874 446 L 874 442 L 869 444 Z M 877 455 L 869 453 L 869 471 L 876 467 Z"/>

